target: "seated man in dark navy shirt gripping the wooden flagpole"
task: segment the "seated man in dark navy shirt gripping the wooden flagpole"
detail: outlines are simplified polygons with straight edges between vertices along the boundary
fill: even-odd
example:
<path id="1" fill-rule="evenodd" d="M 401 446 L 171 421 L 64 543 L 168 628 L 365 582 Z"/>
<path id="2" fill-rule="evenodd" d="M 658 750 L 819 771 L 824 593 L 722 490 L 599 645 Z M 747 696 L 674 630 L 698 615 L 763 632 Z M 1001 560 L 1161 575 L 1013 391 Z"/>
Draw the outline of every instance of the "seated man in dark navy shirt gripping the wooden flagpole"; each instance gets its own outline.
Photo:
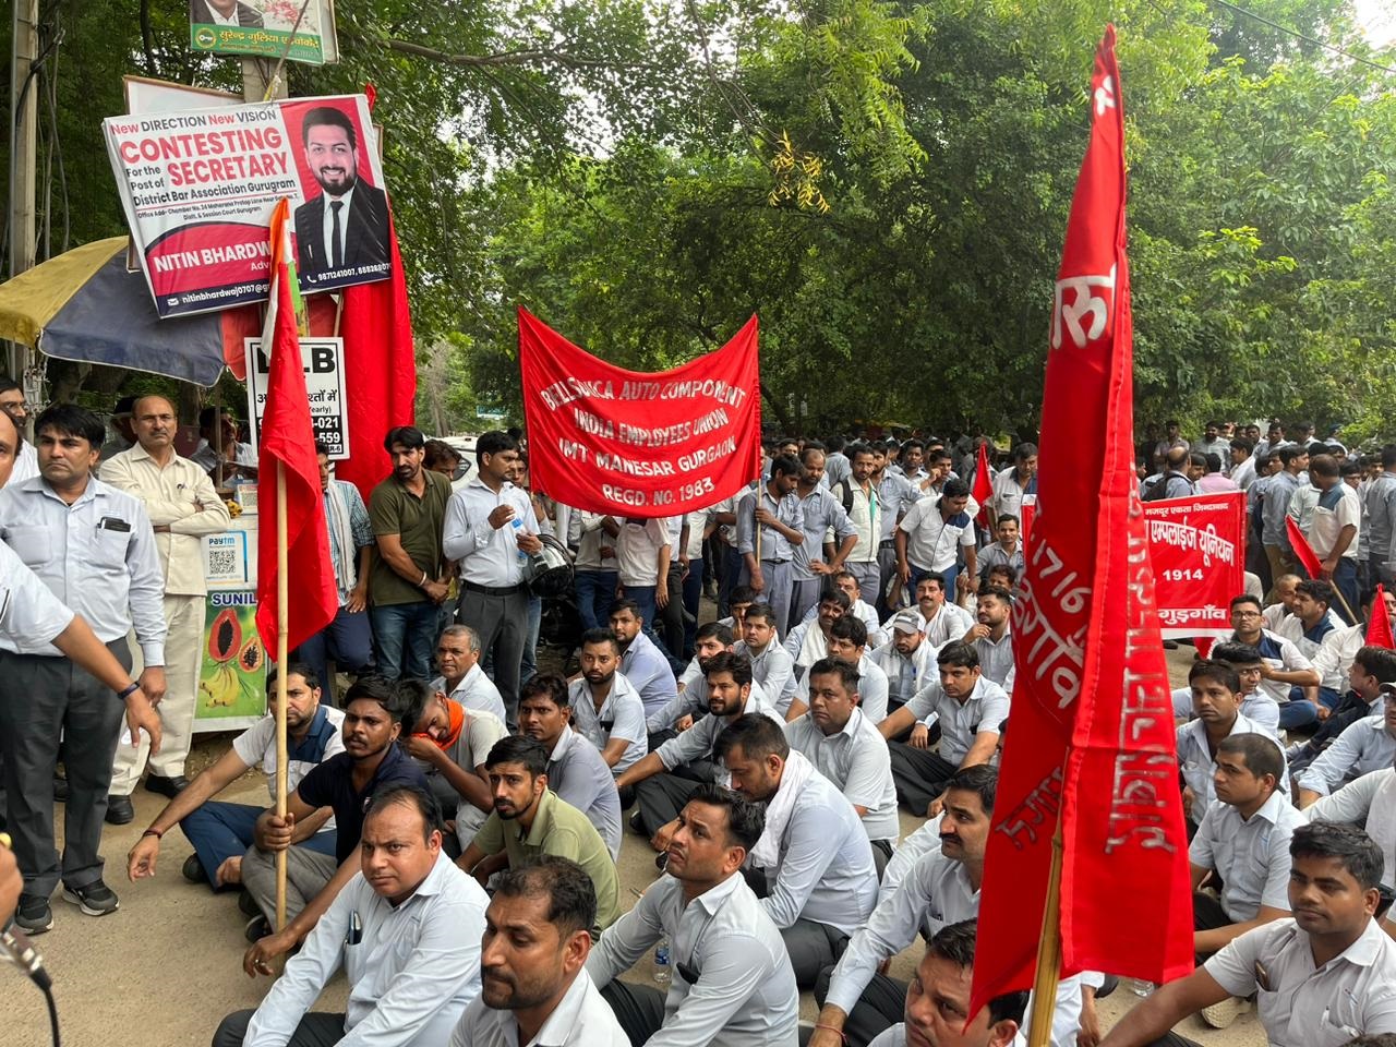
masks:
<path id="1" fill-rule="evenodd" d="M 420 694 L 383 677 L 366 676 L 345 692 L 345 751 L 311 769 L 286 797 L 286 817 L 275 808 L 257 819 L 253 847 L 243 857 L 243 885 L 262 917 L 247 924 L 243 966 L 268 973 L 274 958 L 306 940 L 331 902 L 359 871 L 359 838 L 369 797 L 388 785 L 427 787 L 416 764 L 398 744 L 405 725 L 422 718 Z M 322 807 L 334 810 L 335 853 L 292 847 L 297 825 Z M 286 852 L 286 926 L 276 917 L 276 852 Z"/>

